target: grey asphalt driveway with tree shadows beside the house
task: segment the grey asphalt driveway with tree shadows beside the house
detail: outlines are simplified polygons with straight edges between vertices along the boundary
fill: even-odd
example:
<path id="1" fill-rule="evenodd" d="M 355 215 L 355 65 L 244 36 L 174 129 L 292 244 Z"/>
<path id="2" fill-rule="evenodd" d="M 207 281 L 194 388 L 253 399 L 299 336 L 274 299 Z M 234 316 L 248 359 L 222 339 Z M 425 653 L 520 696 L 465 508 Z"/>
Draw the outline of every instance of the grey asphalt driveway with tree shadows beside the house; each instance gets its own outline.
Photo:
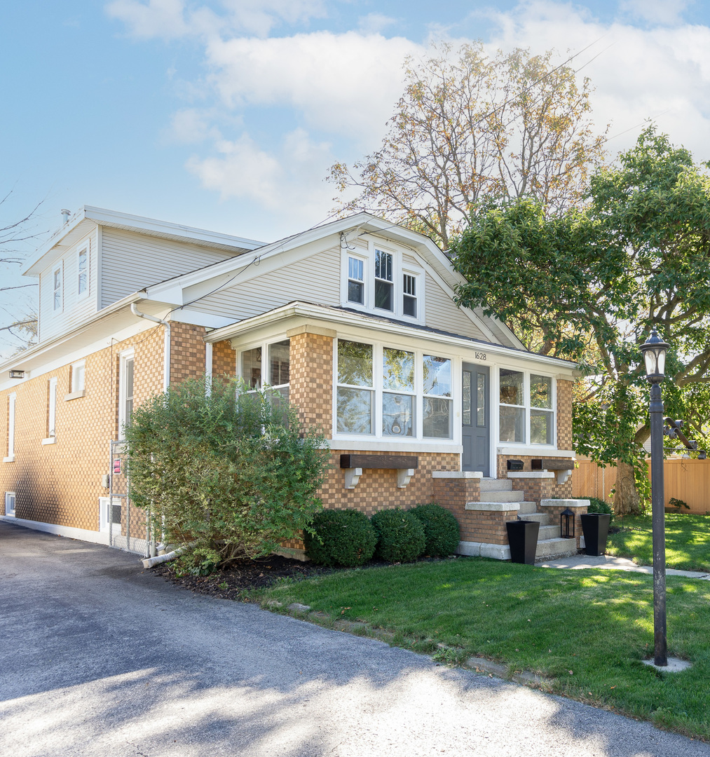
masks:
<path id="1" fill-rule="evenodd" d="M 8 757 L 710 755 L 646 723 L 142 572 L 0 522 Z"/>

